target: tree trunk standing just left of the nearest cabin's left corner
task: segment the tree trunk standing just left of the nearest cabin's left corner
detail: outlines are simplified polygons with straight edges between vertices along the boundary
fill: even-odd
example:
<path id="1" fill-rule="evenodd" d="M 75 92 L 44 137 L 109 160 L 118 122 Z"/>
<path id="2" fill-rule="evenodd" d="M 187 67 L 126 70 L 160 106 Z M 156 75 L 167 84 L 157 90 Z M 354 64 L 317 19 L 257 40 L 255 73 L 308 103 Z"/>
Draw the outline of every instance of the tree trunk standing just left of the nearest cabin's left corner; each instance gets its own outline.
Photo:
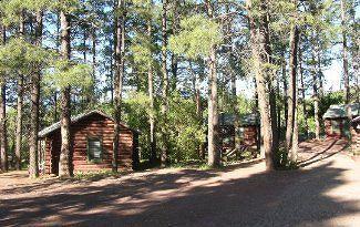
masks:
<path id="1" fill-rule="evenodd" d="M 42 11 L 37 12 L 37 27 L 35 27 L 35 44 L 41 47 L 42 44 L 42 29 L 43 29 L 43 13 Z M 40 106 L 40 69 L 31 76 L 31 125 L 30 125 L 30 166 L 29 176 L 34 178 L 39 176 L 39 145 L 38 145 L 38 133 L 39 133 L 39 106 Z"/>

